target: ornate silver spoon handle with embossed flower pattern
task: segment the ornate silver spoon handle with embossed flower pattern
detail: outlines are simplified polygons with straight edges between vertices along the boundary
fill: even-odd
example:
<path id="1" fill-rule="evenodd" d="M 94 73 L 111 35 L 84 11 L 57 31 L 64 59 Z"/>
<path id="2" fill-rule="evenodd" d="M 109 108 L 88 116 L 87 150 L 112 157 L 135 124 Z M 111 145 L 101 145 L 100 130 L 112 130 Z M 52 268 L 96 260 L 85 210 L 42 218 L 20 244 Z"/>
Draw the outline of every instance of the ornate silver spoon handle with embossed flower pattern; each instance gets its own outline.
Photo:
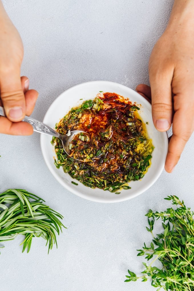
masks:
<path id="1" fill-rule="evenodd" d="M 0 115 L 6 116 L 5 111 L 4 111 L 3 107 L 1 107 L 1 106 L 0 106 Z M 40 122 L 32 117 L 25 116 L 22 121 L 25 121 L 25 122 L 31 124 L 33 127 L 33 130 L 36 132 L 49 134 L 49 135 L 56 136 L 56 137 L 59 137 L 59 135 L 60 135 L 58 132 L 56 132 L 54 129 L 52 129 L 48 125 L 46 125 L 46 124 L 44 124 L 44 123 L 42 123 L 42 122 Z"/>

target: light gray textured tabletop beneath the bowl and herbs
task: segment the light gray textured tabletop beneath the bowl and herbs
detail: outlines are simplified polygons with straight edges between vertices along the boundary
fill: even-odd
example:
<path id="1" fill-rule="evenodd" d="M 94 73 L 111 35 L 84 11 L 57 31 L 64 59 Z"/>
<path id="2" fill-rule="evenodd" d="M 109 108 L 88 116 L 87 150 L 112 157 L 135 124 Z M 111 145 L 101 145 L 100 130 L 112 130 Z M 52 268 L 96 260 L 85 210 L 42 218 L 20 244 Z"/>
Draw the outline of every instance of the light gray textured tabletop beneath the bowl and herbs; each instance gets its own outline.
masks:
<path id="1" fill-rule="evenodd" d="M 42 120 L 65 89 L 91 80 L 115 81 L 131 88 L 148 84 L 147 63 L 165 29 L 172 0 L 4 0 L 24 42 L 22 74 L 39 91 L 33 117 Z M 163 171 L 144 194 L 117 204 L 83 200 L 63 189 L 43 161 L 40 135 L 0 136 L 0 191 L 23 188 L 64 216 L 67 230 L 47 255 L 34 238 L 22 253 L 23 237 L 1 249 L 1 290 L 151 291 L 146 283 L 124 283 L 127 269 L 143 270 L 136 249 L 151 236 L 145 230 L 149 208 L 164 210 L 170 194 L 194 209 L 194 136 L 172 174 Z M 86 191 L 90 191 L 86 189 Z M 1 244 L 2 245 L 2 244 Z"/>

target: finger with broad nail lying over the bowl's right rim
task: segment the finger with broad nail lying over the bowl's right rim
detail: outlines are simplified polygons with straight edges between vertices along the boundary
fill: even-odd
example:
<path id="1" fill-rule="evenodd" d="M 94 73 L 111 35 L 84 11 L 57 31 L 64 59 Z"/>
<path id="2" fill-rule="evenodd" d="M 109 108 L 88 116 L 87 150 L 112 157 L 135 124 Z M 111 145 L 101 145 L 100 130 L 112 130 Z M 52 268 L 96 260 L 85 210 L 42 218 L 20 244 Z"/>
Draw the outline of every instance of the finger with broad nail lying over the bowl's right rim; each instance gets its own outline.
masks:
<path id="1" fill-rule="evenodd" d="M 152 93 L 152 118 L 156 129 L 167 131 L 172 123 L 172 89 L 173 70 L 158 72 L 149 70 Z"/>

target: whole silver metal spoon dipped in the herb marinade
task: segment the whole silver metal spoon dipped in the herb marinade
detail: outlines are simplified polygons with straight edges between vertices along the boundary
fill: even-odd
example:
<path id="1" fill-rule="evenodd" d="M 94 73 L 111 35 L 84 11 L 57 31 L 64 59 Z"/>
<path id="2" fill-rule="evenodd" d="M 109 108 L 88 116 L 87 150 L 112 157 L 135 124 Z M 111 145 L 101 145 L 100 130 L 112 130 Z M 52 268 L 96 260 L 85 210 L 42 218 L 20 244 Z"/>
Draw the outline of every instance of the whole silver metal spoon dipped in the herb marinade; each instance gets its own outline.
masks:
<path id="1" fill-rule="evenodd" d="M 5 111 L 4 111 L 3 107 L 1 107 L 1 106 L 0 106 L 0 115 L 6 116 Z M 34 118 L 31 118 L 29 116 L 25 116 L 22 121 L 25 121 L 25 122 L 31 124 L 33 127 L 33 130 L 36 132 L 43 133 L 43 134 L 49 134 L 51 136 L 55 136 L 58 139 L 60 139 L 62 141 L 63 148 L 64 148 L 67 155 L 70 155 L 69 144 L 71 143 L 72 139 L 74 138 L 74 136 L 76 134 L 84 133 L 84 134 L 88 135 L 87 132 L 84 132 L 81 130 L 72 130 L 72 131 L 69 131 L 67 134 L 62 135 L 62 134 L 58 133 L 56 130 L 49 127 L 48 125 L 46 125 L 46 124 L 44 124 L 44 123 L 42 123 Z M 79 160 L 79 159 L 76 159 L 76 160 Z M 82 161 L 82 160 L 80 160 L 80 161 Z"/>

